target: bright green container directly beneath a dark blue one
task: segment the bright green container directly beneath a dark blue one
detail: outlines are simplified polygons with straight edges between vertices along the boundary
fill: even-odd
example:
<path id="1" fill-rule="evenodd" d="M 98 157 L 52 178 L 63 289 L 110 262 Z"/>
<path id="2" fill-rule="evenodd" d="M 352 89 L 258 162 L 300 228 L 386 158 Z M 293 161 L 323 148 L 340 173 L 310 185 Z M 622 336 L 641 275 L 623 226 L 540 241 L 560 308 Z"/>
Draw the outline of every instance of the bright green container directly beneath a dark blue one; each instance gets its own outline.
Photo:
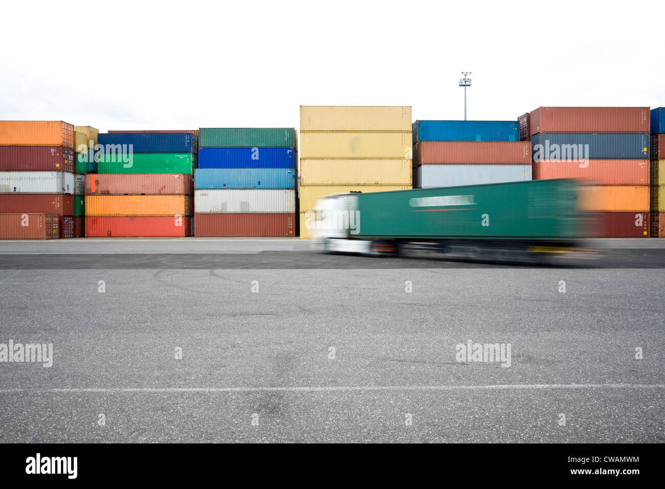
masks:
<path id="1" fill-rule="evenodd" d="M 191 175 L 197 166 L 190 153 L 134 153 L 124 162 L 114 154 L 98 155 L 97 173 L 181 173 Z"/>

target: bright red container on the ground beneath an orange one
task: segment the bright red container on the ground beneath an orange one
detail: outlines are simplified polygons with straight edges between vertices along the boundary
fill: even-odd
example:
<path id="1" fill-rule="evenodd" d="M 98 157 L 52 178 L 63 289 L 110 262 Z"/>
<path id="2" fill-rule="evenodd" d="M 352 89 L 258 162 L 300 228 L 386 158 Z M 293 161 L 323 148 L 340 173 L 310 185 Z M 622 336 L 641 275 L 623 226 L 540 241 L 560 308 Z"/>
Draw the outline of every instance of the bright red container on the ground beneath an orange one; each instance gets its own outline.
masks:
<path id="1" fill-rule="evenodd" d="M 102 216 L 85 218 L 86 238 L 184 238 L 190 236 L 186 216 Z"/>

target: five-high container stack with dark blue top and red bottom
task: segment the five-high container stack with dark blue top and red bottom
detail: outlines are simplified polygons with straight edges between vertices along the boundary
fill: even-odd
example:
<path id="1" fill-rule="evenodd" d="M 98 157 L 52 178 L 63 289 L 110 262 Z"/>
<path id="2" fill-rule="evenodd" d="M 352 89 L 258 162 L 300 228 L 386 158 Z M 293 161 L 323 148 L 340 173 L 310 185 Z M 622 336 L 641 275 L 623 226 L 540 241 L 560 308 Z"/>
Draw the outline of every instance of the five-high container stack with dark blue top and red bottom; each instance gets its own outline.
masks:
<path id="1" fill-rule="evenodd" d="M 85 180 L 86 237 L 191 236 L 195 134 L 109 132 L 98 149 L 97 174 Z"/>

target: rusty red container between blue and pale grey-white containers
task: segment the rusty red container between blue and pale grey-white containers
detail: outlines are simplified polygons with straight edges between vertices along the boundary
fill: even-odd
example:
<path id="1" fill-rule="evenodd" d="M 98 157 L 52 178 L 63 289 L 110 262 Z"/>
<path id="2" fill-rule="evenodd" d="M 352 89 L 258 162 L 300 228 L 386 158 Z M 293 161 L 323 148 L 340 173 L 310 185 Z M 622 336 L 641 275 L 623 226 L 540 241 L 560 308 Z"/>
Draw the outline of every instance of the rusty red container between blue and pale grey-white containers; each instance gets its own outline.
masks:
<path id="1" fill-rule="evenodd" d="M 422 164 L 531 164 L 531 141 L 421 141 Z"/>

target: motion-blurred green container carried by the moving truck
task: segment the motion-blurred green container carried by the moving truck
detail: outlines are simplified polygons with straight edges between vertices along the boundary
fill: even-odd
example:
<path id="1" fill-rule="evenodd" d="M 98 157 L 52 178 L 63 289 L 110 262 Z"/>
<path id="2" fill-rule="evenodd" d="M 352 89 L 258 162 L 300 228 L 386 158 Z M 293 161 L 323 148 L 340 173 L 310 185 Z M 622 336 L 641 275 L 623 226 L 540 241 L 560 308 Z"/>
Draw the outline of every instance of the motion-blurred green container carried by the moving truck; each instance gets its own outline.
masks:
<path id="1" fill-rule="evenodd" d="M 349 204 L 358 211 L 354 238 L 575 238 L 581 231 L 573 180 L 372 192 Z"/>

